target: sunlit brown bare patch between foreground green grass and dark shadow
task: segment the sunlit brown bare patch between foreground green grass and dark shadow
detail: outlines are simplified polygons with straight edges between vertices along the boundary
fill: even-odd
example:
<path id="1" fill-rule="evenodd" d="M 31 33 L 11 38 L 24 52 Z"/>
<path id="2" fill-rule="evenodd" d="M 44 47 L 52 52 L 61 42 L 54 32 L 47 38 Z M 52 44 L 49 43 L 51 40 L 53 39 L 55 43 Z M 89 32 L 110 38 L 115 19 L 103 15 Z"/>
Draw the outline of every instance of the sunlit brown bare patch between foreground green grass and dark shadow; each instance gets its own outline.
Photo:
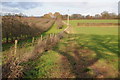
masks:
<path id="1" fill-rule="evenodd" d="M 56 63 L 56 67 L 50 71 L 50 78 L 75 78 L 74 73 L 71 72 L 71 67 L 68 59 L 59 55 L 59 60 Z"/>

